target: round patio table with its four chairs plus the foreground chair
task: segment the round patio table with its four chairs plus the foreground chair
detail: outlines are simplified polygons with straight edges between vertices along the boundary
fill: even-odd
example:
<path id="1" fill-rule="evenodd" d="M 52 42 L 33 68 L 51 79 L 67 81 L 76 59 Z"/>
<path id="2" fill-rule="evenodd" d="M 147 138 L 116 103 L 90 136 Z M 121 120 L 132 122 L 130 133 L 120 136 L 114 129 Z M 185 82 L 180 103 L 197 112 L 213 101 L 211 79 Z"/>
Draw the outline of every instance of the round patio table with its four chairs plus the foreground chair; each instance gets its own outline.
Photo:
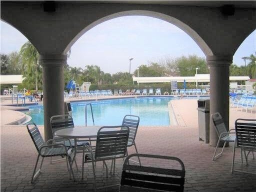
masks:
<path id="1" fill-rule="evenodd" d="M 38 151 L 31 182 L 39 174 L 44 157 L 50 157 L 50 162 L 66 160 L 69 178 L 75 181 L 72 165 L 75 164 L 78 170 L 76 155 L 81 153 L 81 179 L 84 176 L 84 163 L 91 163 L 94 176 L 94 191 L 99 189 L 96 188 L 95 163 L 103 161 L 103 168 L 105 168 L 107 177 L 108 168 L 105 161 L 111 160 L 110 173 L 113 172 L 114 174 L 116 158 L 125 159 L 121 180 L 118 183 L 120 191 L 127 191 L 129 188 L 136 188 L 136 191 L 183 191 L 185 176 L 183 162 L 173 156 L 138 153 L 135 144 L 138 124 L 139 117 L 128 114 L 123 117 L 121 125 L 76 127 L 69 114 L 55 115 L 50 118 L 52 139 L 46 142 L 43 140 L 35 123 L 27 124 L 27 130 Z M 127 147 L 129 146 L 134 146 L 136 153 L 128 155 Z M 40 166 L 36 171 L 40 156 Z M 53 160 L 53 156 L 61 156 L 61 158 Z M 179 164 L 179 167 L 162 168 L 153 165 L 148 166 L 148 163 L 142 165 L 141 158 L 174 161 Z"/>

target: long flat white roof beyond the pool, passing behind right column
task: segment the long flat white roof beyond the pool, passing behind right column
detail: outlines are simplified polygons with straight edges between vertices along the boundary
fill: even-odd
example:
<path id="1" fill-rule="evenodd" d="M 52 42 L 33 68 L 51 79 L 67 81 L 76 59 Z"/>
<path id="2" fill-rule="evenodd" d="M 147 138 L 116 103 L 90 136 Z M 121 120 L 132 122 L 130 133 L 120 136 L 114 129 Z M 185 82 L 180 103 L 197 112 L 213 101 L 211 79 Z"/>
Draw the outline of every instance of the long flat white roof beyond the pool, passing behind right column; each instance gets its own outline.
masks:
<path id="1" fill-rule="evenodd" d="M 249 80 L 248 76 L 229 76 L 229 80 Z M 138 83 L 149 83 L 149 82 L 209 82 L 209 74 L 195 74 L 194 76 L 157 76 L 157 77 L 133 77 L 133 81 Z"/>

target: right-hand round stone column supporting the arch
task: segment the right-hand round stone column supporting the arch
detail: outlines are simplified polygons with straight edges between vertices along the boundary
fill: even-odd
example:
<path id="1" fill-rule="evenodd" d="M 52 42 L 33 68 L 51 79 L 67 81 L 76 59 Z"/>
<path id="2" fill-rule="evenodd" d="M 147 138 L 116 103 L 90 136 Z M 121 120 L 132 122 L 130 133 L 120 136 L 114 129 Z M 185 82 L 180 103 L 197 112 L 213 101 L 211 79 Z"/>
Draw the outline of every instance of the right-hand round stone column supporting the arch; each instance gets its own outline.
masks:
<path id="1" fill-rule="evenodd" d="M 207 56 L 206 62 L 210 67 L 209 144 L 216 146 L 218 136 L 211 114 L 219 112 L 226 127 L 229 127 L 229 65 L 232 63 L 232 56 Z"/>

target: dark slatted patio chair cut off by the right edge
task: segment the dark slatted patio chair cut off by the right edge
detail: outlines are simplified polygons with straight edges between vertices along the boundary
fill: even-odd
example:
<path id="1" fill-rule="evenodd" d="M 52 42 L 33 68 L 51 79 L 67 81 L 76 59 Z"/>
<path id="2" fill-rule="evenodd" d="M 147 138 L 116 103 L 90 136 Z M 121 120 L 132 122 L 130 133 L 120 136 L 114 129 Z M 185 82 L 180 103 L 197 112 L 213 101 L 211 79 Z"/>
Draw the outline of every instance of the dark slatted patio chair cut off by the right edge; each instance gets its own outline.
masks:
<path id="1" fill-rule="evenodd" d="M 245 160 L 246 160 L 246 165 L 248 164 L 248 155 L 250 152 L 252 152 L 253 159 L 254 159 L 253 152 L 256 151 L 256 119 L 238 118 L 235 120 L 234 125 L 235 125 L 236 139 L 233 145 L 233 158 L 232 158 L 231 172 L 233 173 L 234 171 L 238 171 L 238 172 L 256 174 L 256 172 L 248 172 L 248 171 L 234 169 L 235 148 L 241 149 L 241 155 L 243 151 Z"/>

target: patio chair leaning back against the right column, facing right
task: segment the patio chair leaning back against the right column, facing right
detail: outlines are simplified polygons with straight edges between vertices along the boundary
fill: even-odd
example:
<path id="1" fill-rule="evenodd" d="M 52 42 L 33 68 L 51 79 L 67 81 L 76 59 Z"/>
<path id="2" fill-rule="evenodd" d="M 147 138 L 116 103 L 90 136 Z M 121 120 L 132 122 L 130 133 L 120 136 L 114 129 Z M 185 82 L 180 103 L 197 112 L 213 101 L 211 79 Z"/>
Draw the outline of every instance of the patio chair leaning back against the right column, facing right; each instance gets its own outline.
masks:
<path id="1" fill-rule="evenodd" d="M 215 126 L 217 135 L 218 135 L 218 142 L 217 142 L 217 145 L 215 147 L 215 151 L 214 151 L 213 156 L 212 156 L 212 160 L 215 160 L 220 155 L 222 155 L 224 147 L 226 145 L 226 142 L 234 142 L 235 135 L 230 135 L 230 134 L 232 134 L 232 133 L 234 134 L 235 132 L 230 132 L 231 130 L 234 130 L 234 129 L 227 130 L 227 128 L 224 124 L 224 121 L 222 119 L 222 116 L 220 115 L 219 112 L 215 112 L 215 113 L 211 114 L 211 118 L 212 118 L 213 124 Z M 221 152 L 216 154 L 216 151 L 217 151 L 220 140 L 223 141 L 224 144 L 223 144 L 223 147 L 221 149 Z"/>

